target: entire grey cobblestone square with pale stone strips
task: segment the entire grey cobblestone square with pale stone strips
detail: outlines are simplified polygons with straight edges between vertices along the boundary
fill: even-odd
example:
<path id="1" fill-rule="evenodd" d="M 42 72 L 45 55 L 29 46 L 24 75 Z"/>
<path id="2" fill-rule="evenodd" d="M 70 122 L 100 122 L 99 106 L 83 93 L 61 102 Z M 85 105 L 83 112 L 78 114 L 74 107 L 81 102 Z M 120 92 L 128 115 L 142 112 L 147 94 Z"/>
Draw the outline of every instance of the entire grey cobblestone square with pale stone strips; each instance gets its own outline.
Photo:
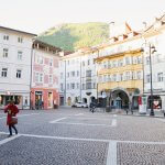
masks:
<path id="1" fill-rule="evenodd" d="M 7 138 L 0 111 L 0 165 L 165 165 L 165 119 L 88 109 L 22 110 Z"/>

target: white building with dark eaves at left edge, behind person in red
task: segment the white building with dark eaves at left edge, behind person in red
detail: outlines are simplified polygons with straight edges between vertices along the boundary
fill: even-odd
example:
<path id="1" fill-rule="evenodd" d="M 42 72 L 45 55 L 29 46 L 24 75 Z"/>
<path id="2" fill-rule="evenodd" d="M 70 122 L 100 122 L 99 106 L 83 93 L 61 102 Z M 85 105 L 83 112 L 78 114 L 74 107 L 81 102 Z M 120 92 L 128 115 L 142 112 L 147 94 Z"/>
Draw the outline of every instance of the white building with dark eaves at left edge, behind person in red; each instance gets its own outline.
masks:
<path id="1" fill-rule="evenodd" d="M 0 26 L 0 107 L 14 99 L 30 106 L 32 38 L 35 34 Z"/>

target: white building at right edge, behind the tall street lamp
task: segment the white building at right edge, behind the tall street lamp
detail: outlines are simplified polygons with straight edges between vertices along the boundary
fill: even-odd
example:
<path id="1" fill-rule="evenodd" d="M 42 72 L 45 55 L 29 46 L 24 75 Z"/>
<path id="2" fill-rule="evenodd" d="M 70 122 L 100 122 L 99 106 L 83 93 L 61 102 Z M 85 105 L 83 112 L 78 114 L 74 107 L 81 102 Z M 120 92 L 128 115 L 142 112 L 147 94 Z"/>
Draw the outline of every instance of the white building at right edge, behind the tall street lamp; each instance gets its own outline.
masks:
<path id="1" fill-rule="evenodd" d="M 165 15 L 156 19 L 143 34 L 144 47 L 144 95 L 147 96 L 147 108 L 151 108 L 151 67 L 153 82 L 153 108 L 165 110 Z M 146 44 L 145 44 L 146 42 Z M 154 48 L 151 48 L 155 46 Z M 150 65 L 151 51 L 151 65 Z M 155 52 L 156 51 L 156 52 Z"/>

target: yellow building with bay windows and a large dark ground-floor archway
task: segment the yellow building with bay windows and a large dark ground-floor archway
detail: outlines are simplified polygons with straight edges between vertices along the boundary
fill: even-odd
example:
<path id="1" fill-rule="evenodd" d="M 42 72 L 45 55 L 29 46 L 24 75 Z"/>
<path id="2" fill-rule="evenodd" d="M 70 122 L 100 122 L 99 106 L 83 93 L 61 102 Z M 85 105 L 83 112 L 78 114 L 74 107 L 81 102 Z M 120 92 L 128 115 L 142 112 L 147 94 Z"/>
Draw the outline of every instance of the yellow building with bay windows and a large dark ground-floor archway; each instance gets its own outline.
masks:
<path id="1" fill-rule="evenodd" d="M 116 29 L 116 26 L 113 26 Z M 125 23 L 122 34 L 112 36 L 110 43 L 99 48 L 98 96 L 106 92 L 112 108 L 139 108 L 143 92 L 143 65 L 141 34 Z M 111 34 L 112 35 L 112 34 Z"/>

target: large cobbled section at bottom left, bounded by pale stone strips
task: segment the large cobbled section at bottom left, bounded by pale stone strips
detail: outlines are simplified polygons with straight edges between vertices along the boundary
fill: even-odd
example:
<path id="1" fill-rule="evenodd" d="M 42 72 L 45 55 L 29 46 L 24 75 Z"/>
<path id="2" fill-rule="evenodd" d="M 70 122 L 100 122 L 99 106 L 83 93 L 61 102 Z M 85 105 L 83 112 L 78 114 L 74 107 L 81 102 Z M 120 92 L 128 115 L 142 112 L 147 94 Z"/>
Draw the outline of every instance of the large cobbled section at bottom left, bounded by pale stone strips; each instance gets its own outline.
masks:
<path id="1" fill-rule="evenodd" d="M 106 165 L 108 143 L 20 136 L 0 146 L 1 165 Z"/>

